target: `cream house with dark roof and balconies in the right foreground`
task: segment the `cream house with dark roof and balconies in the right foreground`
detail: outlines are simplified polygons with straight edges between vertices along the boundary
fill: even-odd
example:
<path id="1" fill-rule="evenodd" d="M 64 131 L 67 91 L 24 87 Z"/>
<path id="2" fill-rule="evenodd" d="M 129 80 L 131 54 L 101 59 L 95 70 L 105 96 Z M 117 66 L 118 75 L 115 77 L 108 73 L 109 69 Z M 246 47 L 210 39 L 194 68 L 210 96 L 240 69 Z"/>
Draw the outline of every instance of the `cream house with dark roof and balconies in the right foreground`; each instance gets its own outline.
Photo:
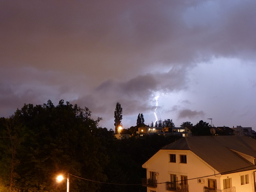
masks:
<path id="1" fill-rule="evenodd" d="M 147 192 L 255 192 L 256 140 L 246 136 L 183 137 L 142 167 Z"/>

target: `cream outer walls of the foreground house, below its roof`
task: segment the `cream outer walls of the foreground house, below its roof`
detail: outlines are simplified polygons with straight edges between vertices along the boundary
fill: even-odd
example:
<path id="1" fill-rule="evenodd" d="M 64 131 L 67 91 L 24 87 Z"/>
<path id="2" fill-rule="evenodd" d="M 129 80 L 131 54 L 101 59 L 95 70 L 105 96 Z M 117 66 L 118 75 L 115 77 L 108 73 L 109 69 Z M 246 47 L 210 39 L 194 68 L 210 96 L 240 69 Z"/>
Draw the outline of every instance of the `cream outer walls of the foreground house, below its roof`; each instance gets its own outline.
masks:
<path id="1" fill-rule="evenodd" d="M 176 163 L 169 162 L 169 154 L 176 154 Z M 187 155 L 187 164 L 179 163 L 179 155 Z M 236 187 L 236 191 L 254 192 L 253 171 L 220 175 L 219 172 L 189 150 L 159 150 L 142 167 L 147 168 L 147 178 L 149 178 L 150 171 L 158 172 L 159 174 L 156 176 L 157 183 L 163 183 L 157 184 L 157 188 L 148 187 L 148 192 L 150 190 L 165 191 L 164 182 L 171 181 L 170 174 L 176 174 L 179 183 L 180 175 L 188 176 L 189 192 L 203 192 L 203 187 L 208 186 L 208 179 L 216 180 L 217 189 L 223 189 L 223 179 L 227 178 L 231 178 L 232 186 Z M 214 174 L 218 175 L 214 176 Z M 241 185 L 240 175 L 246 174 L 249 175 L 249 183 Z M 197 179 L 189 180 L 198 177 L 204 179 L 203 184 L 198 183 Z"/>

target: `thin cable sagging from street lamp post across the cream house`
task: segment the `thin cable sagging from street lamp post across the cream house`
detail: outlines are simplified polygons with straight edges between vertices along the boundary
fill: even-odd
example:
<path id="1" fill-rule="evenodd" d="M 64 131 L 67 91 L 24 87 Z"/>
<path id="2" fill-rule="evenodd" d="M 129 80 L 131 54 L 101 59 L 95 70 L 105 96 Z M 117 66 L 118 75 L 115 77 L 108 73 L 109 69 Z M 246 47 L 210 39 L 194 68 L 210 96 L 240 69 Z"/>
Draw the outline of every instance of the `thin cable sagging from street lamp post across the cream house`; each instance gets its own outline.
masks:
<path id="1" fill-rule="evenodd" d="M 250 165 L 248 167 L 243 167 L 243 168 L 239 168 L 239 169 L 234 169 L 234 170 L 230 170 L 230 171 L 227 171 L 227 172 L 222 172 L 222 173 L 217 173 L 217 174 L 212 174 L 212 175 L 206 175 L 206 176 L 202 176 L 202 177 L 195 177 L 195 178 L 191 178 L 191 179 L 187 179 L 187 180 L 194 180 L 194 179 L 200 179 L 200 178 L 204 178 L 204 177 L 211 177 L 211 176 L 215 176 L 215 175 L 222 175 L 222 174 L 228 174 L 229 172 L 234 172 L 234 171 L 238 171 L 238 170 L 241 170 L 241 169 L 246 169 L 246 168 L 249 168 L 249 167 L 253 167 L 255 165 Z M 83 180 L 87 180 L 87 181 L 91 181 L 91 182 L 96 182 L 96 183 L 102 183 L 102 184 L 110 184 L 110 185 L 142 185 L 142 184 L 126 184 L 126 183 L 108 183 L 108 182 L 102 182 L 102 181 L 95 181 L 95 180 L 90 180 L 90 179 L 85 179 L 85 178 L 82 178 L 82 177 L 78 177 L 76 175 L 72 175 L 69 173 L 69 175 L 73 176 L 73 177 L 76 177 L 76 178 L 79 178 L 79 179 L 83 179 Z M 181 180 L 178 180 L 178 181 L 175 181 L 175 182 L 181 182 Z M 173 183 L 175 183 L 173 182 Z M 156 183 L 156 184 L 164 184 L 166 182 L 161 182 L 161 183 Z"/>

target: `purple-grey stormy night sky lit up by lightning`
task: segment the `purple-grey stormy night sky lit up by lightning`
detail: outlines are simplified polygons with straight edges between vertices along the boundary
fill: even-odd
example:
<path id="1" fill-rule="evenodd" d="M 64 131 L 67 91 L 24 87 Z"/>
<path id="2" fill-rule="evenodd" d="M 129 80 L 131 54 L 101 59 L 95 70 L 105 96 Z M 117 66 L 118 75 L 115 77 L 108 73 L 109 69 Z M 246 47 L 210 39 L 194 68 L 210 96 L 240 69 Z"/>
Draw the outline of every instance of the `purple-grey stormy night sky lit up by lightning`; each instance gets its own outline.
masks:
<path id="1" fill-rule="evenodd" d="M 0 116 L 60 99 L 114 129 L 172 119 L 256 130 L 255 0 L 0 2 Z"/>

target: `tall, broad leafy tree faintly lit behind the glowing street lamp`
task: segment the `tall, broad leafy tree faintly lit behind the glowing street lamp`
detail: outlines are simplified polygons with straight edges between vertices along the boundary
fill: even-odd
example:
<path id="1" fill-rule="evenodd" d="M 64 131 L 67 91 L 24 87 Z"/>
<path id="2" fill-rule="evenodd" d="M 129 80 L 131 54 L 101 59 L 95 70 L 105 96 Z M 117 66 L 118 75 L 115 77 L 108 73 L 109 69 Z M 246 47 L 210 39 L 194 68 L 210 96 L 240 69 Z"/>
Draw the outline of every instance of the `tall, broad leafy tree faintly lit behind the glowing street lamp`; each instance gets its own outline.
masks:
<path id="1" fill-rule="evenodd" d="M 73 106 L 60 100 L 55 107 L 47 104 L 24 105 L 15 114 L 2 118 L 1 164 L 8 165 L 2 180 L 21 191 L 63 191 L 65 185 L 56 185 L 58 173 L 68 173 L 105 181 L 102 165 L 107 163 L 105 149 L 91 132 L 97 121 L 88 108 Z M 99 158 L 100 157 L 100 158 Z M 73 189 L 95 191 L 94 183 L 74 183 Z"/>

